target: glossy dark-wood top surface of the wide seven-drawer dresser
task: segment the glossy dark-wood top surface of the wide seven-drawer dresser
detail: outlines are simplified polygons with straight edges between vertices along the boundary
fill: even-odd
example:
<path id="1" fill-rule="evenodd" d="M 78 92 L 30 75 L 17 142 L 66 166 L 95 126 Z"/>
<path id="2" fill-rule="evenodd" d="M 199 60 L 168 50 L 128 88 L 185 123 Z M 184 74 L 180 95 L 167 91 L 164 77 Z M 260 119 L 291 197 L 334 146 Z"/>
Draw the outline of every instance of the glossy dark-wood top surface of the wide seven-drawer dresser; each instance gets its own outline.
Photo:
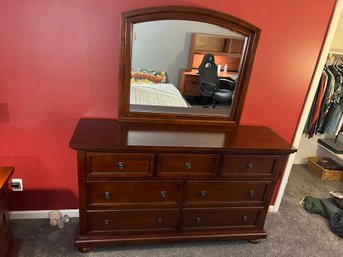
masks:
<path id="1" fill-rule="evenodd" d="M 201 127 L 187 125 L 120 123 L 114 119 L 83 118 L 70 140 L 76 150 L 203 149 L 295 152 L 268 127 Z"/>

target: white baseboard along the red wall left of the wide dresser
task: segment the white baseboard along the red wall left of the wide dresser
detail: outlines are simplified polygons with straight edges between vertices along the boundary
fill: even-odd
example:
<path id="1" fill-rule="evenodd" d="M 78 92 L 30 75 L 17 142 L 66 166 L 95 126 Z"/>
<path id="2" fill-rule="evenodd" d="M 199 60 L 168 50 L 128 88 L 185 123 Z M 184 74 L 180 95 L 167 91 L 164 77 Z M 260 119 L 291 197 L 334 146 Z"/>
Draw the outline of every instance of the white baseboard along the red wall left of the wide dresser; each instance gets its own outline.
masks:
<path id="1" fill-rule="evenodd" d="M 19 219 L 48 219 L 49 212 L 51 210 L 40 210 L 40 211 L 12 211 L 10 212 L 11 220 Z M 62 215 L 68 215 L 69 217 L 79 217 L 79 209 L 59 210 Z"/>

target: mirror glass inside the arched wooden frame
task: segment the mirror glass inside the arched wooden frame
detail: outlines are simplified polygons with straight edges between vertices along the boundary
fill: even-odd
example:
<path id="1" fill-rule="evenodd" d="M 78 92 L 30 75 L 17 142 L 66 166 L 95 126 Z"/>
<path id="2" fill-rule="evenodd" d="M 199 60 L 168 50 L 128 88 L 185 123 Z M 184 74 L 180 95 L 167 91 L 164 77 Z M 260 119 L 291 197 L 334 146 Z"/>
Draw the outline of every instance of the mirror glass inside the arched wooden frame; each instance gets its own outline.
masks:
<path id="1" fill-rule="evenodd" d="M 247 42 L 205 22 L 133 24 L 129 111 L 231 117 Z"/>

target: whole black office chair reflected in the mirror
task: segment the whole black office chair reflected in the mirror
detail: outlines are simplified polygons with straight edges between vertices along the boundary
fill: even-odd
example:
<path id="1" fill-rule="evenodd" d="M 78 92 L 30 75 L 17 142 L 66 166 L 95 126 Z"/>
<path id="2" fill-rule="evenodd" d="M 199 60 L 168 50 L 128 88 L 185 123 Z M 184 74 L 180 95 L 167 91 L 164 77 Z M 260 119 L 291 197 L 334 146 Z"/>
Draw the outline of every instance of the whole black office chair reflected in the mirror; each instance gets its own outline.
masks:
<path id="1" fill-rule="evenodd" d="M 205 54 L 199 66 L 200 99 L 202 103 L 212 102 L 212 108 L 217 104 L 230 105 L 236 82 L 230 79 L 219 79 L 218 67 L 213 54 Z"/>

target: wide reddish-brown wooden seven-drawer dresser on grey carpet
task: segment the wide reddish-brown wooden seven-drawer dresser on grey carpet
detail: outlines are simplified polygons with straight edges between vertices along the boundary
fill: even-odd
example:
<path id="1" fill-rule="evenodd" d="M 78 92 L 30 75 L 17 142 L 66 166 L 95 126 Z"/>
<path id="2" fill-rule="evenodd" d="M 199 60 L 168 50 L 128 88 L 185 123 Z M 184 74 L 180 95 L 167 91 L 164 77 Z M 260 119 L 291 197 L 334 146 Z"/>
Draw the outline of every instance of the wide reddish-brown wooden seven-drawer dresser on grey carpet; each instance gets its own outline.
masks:
<path id="1" fill-rule="evenodd" d="M 75 245 L 247 239 L 257 243 L 288 155 L 267 127 L 81 119 Z"/>

